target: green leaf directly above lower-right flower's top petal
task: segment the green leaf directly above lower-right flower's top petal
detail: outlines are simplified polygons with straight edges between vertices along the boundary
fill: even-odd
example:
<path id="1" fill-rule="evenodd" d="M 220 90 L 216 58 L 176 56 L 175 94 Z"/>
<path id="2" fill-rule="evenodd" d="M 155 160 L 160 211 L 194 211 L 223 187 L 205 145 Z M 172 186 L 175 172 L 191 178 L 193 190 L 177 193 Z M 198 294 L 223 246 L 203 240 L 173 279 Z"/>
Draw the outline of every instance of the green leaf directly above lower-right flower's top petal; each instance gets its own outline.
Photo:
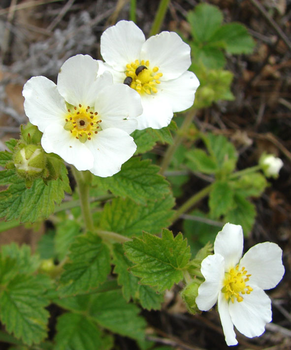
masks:
<path id="1" fill-rule="evenodd" d="M 233 201 L 235 206 L 226 214 L 225 222 L 241 225 L 247 235 L 255 223 L 256 207 L 241 194 L 234 194 Z"/>

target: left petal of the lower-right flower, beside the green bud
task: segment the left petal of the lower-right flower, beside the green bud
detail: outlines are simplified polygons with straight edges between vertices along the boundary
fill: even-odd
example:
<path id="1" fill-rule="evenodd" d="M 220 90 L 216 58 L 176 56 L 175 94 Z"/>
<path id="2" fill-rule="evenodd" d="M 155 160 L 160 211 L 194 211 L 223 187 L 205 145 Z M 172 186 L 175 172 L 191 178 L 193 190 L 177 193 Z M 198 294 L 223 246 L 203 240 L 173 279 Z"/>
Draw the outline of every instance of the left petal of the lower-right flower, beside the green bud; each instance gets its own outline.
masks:
<path id="1" fill-rule="evenodd" d="M 199 310 L 207 311 L 216 303 L 223 287 L 224 258 L 219 254 L 208 255 L 201 263 L 201 273 L 205 281 L 198 288 L 195 302 Z"/>

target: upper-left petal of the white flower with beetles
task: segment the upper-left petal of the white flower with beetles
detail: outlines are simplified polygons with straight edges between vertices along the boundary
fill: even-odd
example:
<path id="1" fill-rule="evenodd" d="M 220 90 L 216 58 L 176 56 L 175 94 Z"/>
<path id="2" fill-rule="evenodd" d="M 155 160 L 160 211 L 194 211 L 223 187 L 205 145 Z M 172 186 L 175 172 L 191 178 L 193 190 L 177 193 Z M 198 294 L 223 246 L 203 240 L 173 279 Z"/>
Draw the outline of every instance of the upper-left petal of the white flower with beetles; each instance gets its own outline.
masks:
<path id="1" fill-rule="evenodd" d="M 101 35 L 101 55 L 110 66 L 120 72 L 126 65 L 139 59 L 145 36 L 131 21 L 119 21 Z"/>

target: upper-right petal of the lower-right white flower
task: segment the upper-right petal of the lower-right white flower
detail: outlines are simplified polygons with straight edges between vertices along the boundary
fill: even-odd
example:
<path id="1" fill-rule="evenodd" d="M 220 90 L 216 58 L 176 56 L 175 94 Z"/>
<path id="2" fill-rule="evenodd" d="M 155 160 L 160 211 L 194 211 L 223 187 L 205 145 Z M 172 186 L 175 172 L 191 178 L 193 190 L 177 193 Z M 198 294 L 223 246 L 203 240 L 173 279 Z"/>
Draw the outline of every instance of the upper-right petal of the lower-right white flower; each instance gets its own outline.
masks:
<path id="1" fill-rule="evenodd" d="M 254 245 L 239 263 L 252 276 L 250 281 L 261 289 L 274 288 L 282 279 L 285 269 L 282 264 L 282 249 L 271 242 Z"/>

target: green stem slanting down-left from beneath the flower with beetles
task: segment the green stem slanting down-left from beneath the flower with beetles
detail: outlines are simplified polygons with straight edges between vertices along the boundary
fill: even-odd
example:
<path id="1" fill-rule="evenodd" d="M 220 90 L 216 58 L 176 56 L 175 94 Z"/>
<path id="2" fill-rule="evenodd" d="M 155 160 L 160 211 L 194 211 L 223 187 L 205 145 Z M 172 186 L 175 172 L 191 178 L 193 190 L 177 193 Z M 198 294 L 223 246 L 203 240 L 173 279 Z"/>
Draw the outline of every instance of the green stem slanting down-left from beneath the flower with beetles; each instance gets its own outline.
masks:
<path id="1" fill-rule="evenodd" d="M 194 111 L 189 111 L 187 113 L 180 130 L 177 131 L 177 135 L 174 138 L 173 144 L 167 148 L 166 153 L 162 159 L 160 174 L 163 174 L 167 170 L 172 160 L 172 157 L 175 151 L 177 150 L 177 148 L 179 147 L 179 145 L 181 144 L 185 136 L 185 133 L 187 132 L 187 130 L 189 129 L 189 126 L 192 123 L 194 116 L 195 116 Z"/>

